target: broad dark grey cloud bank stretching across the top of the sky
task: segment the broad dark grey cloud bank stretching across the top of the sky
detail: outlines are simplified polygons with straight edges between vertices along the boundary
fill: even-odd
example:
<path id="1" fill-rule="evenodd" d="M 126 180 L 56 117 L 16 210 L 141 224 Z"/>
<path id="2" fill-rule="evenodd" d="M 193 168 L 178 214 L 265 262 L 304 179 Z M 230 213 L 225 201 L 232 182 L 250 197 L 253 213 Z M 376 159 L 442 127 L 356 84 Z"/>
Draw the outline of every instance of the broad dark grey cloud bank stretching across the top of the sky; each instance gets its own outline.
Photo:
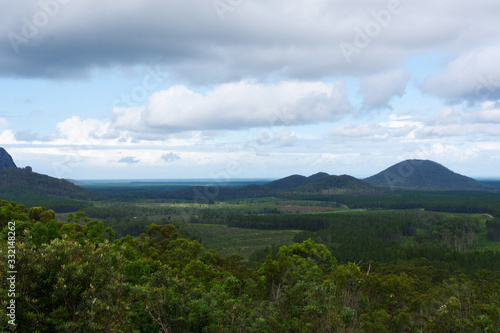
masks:
<path id="1" fill-rule="evenodd" d="M 212 1 L 126 0 L 119 12 L 112 1 L 53 1 L 52 10 L 43 3 L 0 2 L 7 37 L 0 75 L 86 77 L 96 68 L 159 61 L 177 80 L 198 84 L 357 76 L 393 70 L 417 52 L 458 54 L 496 38 L 500 24 L 497 0 L 401 1 L 400 13 L 347 63 L 339 45 L 377 23 L 372 13 L 387 10 L 387 0 L 245 1 L 223 21 Z M 39 13 L 46 22 L 34 19 Z"/>

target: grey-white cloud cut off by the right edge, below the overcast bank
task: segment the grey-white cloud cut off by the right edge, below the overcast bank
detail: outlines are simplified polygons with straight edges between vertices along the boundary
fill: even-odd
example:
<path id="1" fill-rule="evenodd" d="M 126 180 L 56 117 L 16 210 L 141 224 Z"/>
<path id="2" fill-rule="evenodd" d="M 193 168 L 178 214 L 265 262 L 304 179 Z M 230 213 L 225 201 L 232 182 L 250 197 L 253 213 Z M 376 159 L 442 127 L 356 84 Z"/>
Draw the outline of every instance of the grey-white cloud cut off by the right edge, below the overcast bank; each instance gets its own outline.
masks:
<path id="1" fill-rule="evenodd" d="M 449 103 L 500 99 L 499 57 L 499 43 L 474 49 L 451 61 L 444 72 L 427 78 L 422 89 Z"/>

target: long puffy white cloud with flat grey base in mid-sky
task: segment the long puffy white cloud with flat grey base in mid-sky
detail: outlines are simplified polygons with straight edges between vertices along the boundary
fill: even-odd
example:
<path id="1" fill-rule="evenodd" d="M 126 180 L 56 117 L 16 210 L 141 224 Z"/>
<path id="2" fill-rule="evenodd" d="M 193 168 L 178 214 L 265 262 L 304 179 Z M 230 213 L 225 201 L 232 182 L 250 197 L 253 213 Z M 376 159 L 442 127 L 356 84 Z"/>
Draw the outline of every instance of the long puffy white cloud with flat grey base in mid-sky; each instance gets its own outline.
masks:
<path id="1" fill-rule="evenodd" d="M 240 81 L 201 94 L 183 85 L 153 93 L 145 106 L 113 109 L 118 130 L 151 134 L 237 130 L 335 121 L 352 111 L 343 81 Z M 142 136 L 141 136 L 142 134 Z"/>

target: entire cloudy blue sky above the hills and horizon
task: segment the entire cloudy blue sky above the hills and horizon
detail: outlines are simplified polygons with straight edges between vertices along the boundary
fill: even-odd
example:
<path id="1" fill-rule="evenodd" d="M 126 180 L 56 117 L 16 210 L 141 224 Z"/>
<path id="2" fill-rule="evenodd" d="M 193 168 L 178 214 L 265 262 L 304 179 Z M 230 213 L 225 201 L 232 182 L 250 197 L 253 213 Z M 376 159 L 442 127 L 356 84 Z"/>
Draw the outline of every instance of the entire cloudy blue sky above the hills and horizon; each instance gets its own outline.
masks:
<path id="1" fill-rule="evenodd" d="M 70 179 L 500 178 L 498 0 L 0 2 L 0 146 Z"/>

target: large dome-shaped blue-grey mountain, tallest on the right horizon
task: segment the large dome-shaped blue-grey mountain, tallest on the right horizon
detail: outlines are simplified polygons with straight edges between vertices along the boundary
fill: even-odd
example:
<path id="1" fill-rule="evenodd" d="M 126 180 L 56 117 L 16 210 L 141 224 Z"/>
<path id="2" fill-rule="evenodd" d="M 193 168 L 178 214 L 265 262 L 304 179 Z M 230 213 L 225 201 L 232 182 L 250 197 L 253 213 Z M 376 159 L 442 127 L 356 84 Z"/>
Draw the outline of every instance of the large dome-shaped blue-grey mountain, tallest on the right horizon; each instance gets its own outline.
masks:
<path id="1" fill-rule="evenodd" d="M 487 190 L 487 185 L 460 175 L 429 160 L 406 160 L 365 178 L 378 187 L 407 190 L 468 191 Z"/>

